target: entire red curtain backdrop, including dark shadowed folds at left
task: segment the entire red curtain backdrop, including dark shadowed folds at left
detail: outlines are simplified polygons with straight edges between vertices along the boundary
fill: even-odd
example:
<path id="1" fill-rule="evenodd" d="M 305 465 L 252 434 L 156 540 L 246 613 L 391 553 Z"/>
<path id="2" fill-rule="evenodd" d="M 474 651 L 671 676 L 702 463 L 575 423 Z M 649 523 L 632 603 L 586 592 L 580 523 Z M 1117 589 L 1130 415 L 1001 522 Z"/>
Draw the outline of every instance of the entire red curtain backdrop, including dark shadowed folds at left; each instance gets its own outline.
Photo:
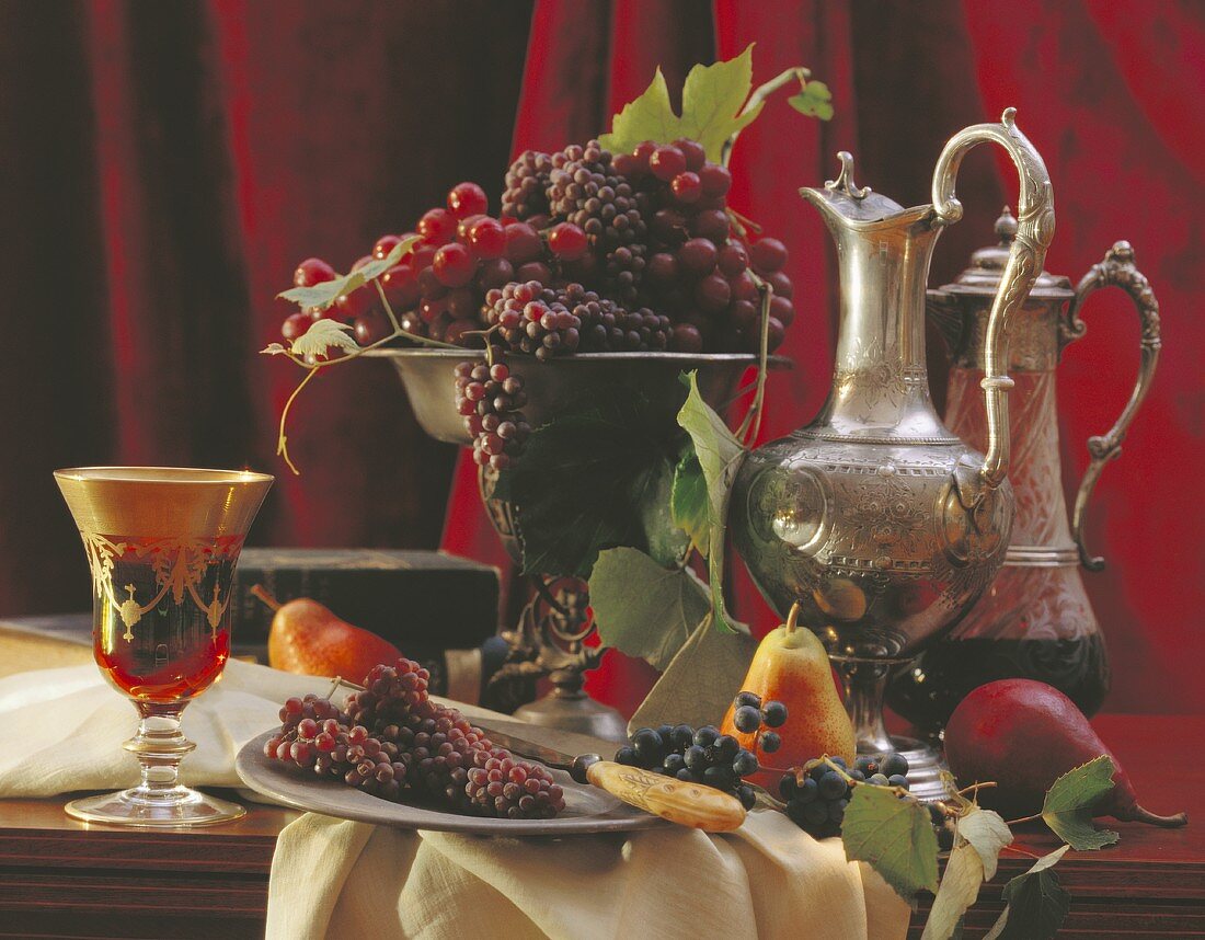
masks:
<path id="1" fill-rule="evenodd" d="M 677 88 L 693 63 L 756 41 L 759 81 L 807 65 L 837 108 L 821 124 L 772 101 L 734 158 L 733 202 L 789 246 L 800 310 L 764 436 L 809 421 L 831 371 L 831 249 L 795 189 L 850 149 L 860 183 L 927 201 L 944 141 L 1016 106 L 1054 181 L 1050 270 L 1078 277 L 1124 237 L 1163 304 L 1154 389 L 1089 523 L 1110 560 L 1084 576 L 1115 662 L 1106 707 L 1205 706 L 1200 5 L 0 0 L 0 613 L 88 604 L 49 476 L 81 463 L 272 470 L 253 541 L 277 545 L 435 546 L 452 487 L 443 544 L 500 562 L 471 474 L 453 478 L 454 451 L 422 435 L 383 364 L 307 389 L 290 434 L 304 476 L 288 474 L 276 421 L 299 376 L 255 353 L 287 312 L 272 296 L 299 259 L 345 268 L 460 180 L 496 200 L 515 152 L 605 129 L 657 64 Z M 933 283 L 989 240 L 1011 172 L 968 158 L 968 213 Z M 1059 372 L 1069 486 L 1138 358 L 1124 296 L 1097 295 L 1087 316 Z M 765 629 L 747 581 L 733 586 Z M 649 681 L 609 656 L 590 687 L 631 707 Z"/>

